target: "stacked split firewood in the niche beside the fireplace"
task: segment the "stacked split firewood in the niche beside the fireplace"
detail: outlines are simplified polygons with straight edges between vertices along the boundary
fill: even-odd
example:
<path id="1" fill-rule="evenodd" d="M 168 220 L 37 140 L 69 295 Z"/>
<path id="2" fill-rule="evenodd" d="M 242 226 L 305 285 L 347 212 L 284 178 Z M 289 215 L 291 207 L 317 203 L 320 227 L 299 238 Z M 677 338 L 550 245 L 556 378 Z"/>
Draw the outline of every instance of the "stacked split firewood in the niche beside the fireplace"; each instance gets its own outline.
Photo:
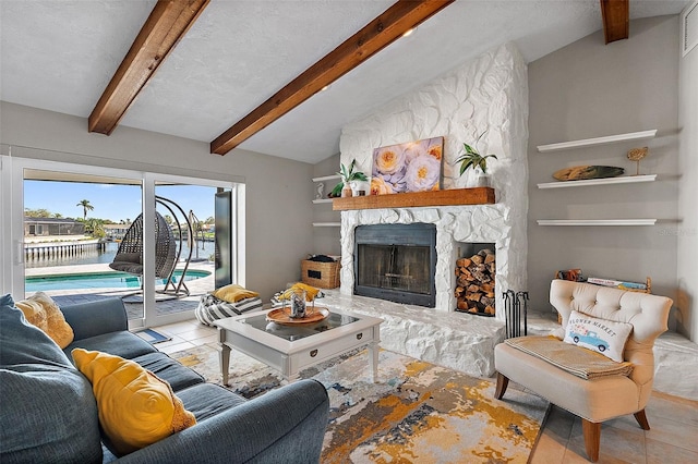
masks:
<path id="1" fill-rule="evenodd" d="M 494 316 L 494 276 L 492 249 L 482 249 L 469 258 L 456 260 L 458 310 Z"/>

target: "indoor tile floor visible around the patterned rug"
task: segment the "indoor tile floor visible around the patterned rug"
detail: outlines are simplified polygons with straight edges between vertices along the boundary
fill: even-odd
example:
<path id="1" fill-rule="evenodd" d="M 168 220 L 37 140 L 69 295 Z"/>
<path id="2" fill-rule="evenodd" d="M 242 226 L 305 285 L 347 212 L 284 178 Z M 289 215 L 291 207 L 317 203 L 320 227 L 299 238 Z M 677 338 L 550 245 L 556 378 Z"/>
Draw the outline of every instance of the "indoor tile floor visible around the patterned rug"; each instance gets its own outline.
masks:
<path id="1" fill-rule="evenodd" d="M 157 327 L 172 338 L 158 343 L 165 353 L 216 343 L 215 329 L 196 320 Z M 599 463 L 698 463 L 698 402 L 654 391 L 647 407 L 651 430 L 633 416 L 609 420 L 601 428 Z M 553 406 L 531 455 L 532 464 L 586 463 L 581 420 Z"/>

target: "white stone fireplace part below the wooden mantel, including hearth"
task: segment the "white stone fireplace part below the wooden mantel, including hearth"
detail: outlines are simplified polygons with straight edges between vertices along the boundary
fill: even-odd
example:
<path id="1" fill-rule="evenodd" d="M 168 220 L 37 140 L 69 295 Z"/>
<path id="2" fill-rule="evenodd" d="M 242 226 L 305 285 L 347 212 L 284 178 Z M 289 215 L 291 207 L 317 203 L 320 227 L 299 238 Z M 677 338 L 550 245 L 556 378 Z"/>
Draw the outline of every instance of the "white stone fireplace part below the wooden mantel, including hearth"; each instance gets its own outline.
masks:
<path id="1" fill-rule="evenodd" d="M 510 273 L 521 264 L 509 254 L 513 228 L 507 225 L 508 217 L 508 207 L 502 204 L 342 211 L 341 288 L 323 304 L 383 318 L 382 346 L 388 350 L 490 377 L 494 374 L 494 346 L 505 337 L 502 289 L 518 282 Z M 354 229 L 361 224 L 414 222 L 436 224 L 436 307 L 352 295 Z M 455 312 L 454 266 L 460 257 L 459 243 L 495 244 L 495 318 Z"/>

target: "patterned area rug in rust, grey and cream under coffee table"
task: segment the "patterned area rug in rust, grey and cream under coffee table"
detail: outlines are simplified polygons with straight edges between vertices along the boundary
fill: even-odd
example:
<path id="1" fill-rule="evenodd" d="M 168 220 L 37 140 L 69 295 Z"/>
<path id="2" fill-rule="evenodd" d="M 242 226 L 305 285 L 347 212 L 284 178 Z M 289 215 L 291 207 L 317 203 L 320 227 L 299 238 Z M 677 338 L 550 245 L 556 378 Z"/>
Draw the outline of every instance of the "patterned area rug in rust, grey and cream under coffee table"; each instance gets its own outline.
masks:
<path id="1" fill-rule="evenodd" d="M 171 355 L 220 383 L 213 345 Z M 494 382 L 382 350 L 378 382 L 362 350 L 301 373 L 321 381 L 330 412 L 323 463 L 526 463 L 549 403 L 509 383 L 504 401 Z M 228 389 L 245 398 L 285 384 L 251 357 L 232 352 Z"/>

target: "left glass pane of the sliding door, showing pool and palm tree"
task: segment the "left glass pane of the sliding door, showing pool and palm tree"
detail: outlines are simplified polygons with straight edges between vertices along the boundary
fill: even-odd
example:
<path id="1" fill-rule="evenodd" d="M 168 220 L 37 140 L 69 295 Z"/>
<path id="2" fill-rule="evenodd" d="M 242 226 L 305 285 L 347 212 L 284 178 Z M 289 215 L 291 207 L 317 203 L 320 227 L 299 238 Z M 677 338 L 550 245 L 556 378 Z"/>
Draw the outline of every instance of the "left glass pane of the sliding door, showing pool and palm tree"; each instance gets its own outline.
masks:
<path id="1" fill-rule="evenodd" d="M 22 169 L 25 295 L 44 292 L 62 305 L 109 296 L 125 302 L 141 292 L 142 253 L 131 253 L 127 264 L 117 252 L 139 225 L 143 182 L 120 174 Z M 144 319 L 143 305 L 127 308 L 130 319 Z"/>

